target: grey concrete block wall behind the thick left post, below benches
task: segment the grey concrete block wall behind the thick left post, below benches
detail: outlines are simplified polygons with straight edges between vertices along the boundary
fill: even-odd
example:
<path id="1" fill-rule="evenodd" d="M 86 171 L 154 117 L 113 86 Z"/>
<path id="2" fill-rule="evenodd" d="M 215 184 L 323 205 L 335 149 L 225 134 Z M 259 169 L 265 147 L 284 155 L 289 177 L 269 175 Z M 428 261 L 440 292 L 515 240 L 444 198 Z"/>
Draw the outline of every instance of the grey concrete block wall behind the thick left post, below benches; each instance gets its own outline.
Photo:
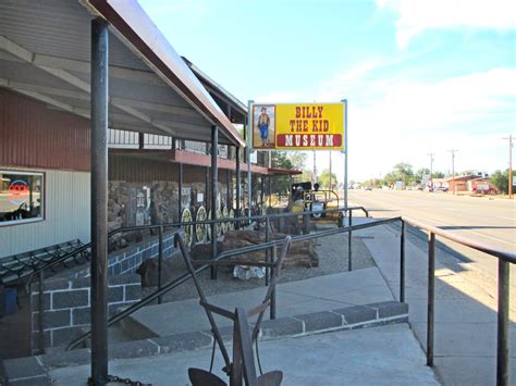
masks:
<path id="1" fill-rule="evenodd" d="M 175 232 L 163 235 L 163 258 L 174 252 Z M 159 254 L 158 237 L 148 238 L 108 257 L 109 315 L 120 307 L 130 306 L 142 298 L 140 276 L 135 274 L 147 259 Z M 38 347 L 39 286 L 32 286 L 33 349 Z M 89 329 L 90 267 L 73 272 L 66 278 L 48 278 L 44 284 L 44 323 L 46 347 L 66 346 L 72 339 Z"/>

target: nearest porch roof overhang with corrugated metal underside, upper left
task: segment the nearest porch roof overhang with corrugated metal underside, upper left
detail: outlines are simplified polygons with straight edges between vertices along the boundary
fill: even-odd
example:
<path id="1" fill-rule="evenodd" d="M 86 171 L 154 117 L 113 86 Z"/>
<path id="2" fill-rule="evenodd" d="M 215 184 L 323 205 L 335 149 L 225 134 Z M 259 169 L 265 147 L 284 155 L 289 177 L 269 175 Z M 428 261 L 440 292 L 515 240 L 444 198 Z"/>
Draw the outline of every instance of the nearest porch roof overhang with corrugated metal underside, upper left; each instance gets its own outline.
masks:
<path id="1" fill-rule="evenodd" d="M 136 0 L 0 2 L 0 87 L 89 119 L 90 21 L 110 25 L 110 127 L 245 142 Z"/>

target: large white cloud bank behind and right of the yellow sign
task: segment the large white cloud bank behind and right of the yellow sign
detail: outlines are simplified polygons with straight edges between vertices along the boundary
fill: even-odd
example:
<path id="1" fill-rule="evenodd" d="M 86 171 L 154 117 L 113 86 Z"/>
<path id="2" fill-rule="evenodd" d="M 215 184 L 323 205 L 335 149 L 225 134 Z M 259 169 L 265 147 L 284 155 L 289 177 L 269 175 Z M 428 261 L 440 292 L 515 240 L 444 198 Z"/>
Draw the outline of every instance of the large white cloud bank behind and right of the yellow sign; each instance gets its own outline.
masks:
<path id="1" fill-rule="evenodd" d="M 505 169 L 506 144 L 501 138 L 516 127 L 516 69 L 486 72 L 441 80 L 384 77 L 379 70 L 390 61 L 374 59 L 336 74 L 315 89 L 278 91 L 257 101 L 320 102 L 348 98 L 349 178 L 379 177 L 398 162 L 415 170 L 451 169 L 449 149 L 459 151 L 456 170 L 493 172 Z M 318 170 L 328 167 L 327 152 L 317 154 Z M 334 170 L 343 175 L 335 154 Z M 311 157 L 308 166 L 311 169 Z"/>

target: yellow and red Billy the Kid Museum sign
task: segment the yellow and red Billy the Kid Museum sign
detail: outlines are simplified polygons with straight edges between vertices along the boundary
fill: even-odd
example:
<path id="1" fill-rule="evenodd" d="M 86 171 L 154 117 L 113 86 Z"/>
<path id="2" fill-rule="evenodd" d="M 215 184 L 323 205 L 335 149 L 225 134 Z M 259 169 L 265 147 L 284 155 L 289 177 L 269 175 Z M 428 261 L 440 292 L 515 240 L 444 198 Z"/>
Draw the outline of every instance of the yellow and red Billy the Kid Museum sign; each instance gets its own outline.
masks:
<path id="1" fill-rule="evenodd" d="M 344 111 L 343 102 L 251 104 L 253 148 L 342 150 L 345 145 Z"/>

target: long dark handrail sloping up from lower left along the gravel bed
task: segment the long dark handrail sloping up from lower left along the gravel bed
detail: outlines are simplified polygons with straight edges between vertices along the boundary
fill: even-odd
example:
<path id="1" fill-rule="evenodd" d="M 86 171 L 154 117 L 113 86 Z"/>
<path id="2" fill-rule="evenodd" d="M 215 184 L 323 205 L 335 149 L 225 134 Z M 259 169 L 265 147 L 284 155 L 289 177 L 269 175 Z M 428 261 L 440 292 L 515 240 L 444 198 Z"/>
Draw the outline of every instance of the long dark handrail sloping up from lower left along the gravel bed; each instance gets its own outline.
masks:
<path id="1" fill-rule="evenodd" d="M 359 231 L 359 229 L 370 228 L 370 227 L 373 227 L 373 226 L 394 223 L 394 222 L 397 222 L 397 221 L 401 221 L 401 220 L 402 220 L 401 217 L 378 220 L 378 221 L 370 222 L 370 223 L 353 225 L 353 226 L 347 226 L 347 227 L 341 227 L 341 228 L 334 228 L 334 229 L 328 229 L 328 231 L 321 231 L 321 232 L 314 233 L 314 234 L 308 234 L 308 235 L 292 236 L 292 242 L 306 241 L 306 240 L 310 240 L 310 239 L 317 239 L 317 238 L 320 238 L 320 237 L 333 236 L 333 235 L 337 235 L 337 234 L 342 234 L 342 233 L 348 233 L 349 231 Z M 231 258 L 231 257 L 234 257 L 234 256 L 242 256 L 242 254 L 245 254 L 245 253 L 258 252 L 258 251 L 261 251 L 261 250 L 268 250 L 268 249 L 280 246 L 283 242 L 284 242 L 283 239 L 279 239 L 279 240 L 262 242 L 262 244 L 255 245 L 255 246 L 248 246 L 248 247 L 232 249 L 230 251 L 224 251 L 224 252 L 220 253 L 219 256 L 217 256 L 212 260 L 213 261 L 220 261 L 220 260 L 228 259 L 228 258 Z M 209 265 L 202 265 L 202 266 L 198 267 L 195 271 L 195 273 L 198 274 L 198 273 L 205 271 L 208 267 L 209 267 Z M 169 284 L 161 287 L 161 289 L 157 289 L 156 291 L 153 291 L 152 294 L 146 296 L 144 299 L 139 300 L 138 302 L 136 302 L 134 304 L 131 304 L 128 308 L 126 308 L 122 312 L 118 313 L 116 315 L 111 316 L 108 321 L 108 327 L 113 325 L 114 323 L 120 322 L 121 320 L 127 317 L 128 315 L 131 315 L 134 312 L 140 310 L 142 308 L 148 306 L 149 303 L 151 303 L 156 299 L 158 299 L 161 296 L 165 295 L 171 289 L 176 288 L 177 286 L 180 286 L 183 283 L 185 283 L 186 281 L 188 281 L 188 278 L 191 278 L 191 275 L 188 273 L 183 274 L 182 276 L 175 278 L 174 281 L 172 281 Z M 272 308 L 274 306 L 275 306 L 275 303 L 271 304 L 271 313 L 275 313 L 275 310 L 272 310 Z M 72 343 L 70 343 L 69 346 L 66 346 L 65 350 L 71 350 L 71 349 L 77 347 L 81 343 L 85 341 L 90 336 L 91 336 L 91 332 L 85 333 L 84 335 L 77 337 Z"/>

